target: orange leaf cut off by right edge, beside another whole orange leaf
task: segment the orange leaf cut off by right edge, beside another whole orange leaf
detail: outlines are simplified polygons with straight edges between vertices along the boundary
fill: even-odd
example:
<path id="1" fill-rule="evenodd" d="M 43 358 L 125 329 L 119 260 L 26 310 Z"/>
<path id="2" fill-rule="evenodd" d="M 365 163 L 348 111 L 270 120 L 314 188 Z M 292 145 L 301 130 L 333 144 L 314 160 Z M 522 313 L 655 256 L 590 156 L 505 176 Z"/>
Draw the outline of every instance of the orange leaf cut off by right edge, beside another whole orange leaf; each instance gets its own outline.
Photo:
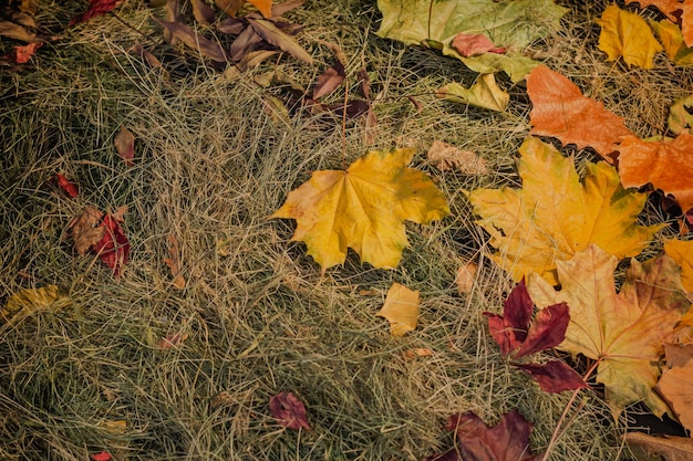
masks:
<path id="1" fill-rule="evenodd" d="M 693 135 L 682 132 L 671 142 L 645 142 L 627 136 L 619 150 L 619 175 L 623 187 L 650 182 L 664 193 L 671 193 L 684 213 L 693 208 Z"/>

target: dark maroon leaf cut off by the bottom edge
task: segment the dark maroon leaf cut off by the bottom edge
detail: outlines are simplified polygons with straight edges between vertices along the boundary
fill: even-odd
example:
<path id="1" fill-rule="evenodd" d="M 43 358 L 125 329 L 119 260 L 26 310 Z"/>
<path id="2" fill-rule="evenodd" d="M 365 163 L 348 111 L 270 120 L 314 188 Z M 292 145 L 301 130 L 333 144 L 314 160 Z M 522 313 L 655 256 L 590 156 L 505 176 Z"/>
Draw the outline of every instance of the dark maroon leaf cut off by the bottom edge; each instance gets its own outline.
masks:
<path id="1" fill-rule="evenodd" d="M 503 415 L 493 427 L 472 411 L 456 413 L 446 426 L 455 431 L 456 446 L 424 461 L 538 461 L 541 454 L 529 448 L 532 428 L 517 410 Z"/>

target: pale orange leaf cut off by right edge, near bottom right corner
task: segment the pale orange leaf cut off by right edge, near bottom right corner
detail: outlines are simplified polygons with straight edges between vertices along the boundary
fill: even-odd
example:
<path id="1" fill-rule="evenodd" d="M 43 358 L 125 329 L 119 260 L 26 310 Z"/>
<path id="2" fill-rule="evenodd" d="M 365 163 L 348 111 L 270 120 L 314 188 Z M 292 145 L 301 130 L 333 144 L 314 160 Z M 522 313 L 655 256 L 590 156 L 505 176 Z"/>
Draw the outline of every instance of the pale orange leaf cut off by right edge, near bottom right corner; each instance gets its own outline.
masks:
<path id="1" fill-rule="evenodd" d="M 693 343 L 664 345 L 666 367 L 655 386 L 679 421 L 693 430 Z M 693 453 L 692 453 L 693 454 Z"/>

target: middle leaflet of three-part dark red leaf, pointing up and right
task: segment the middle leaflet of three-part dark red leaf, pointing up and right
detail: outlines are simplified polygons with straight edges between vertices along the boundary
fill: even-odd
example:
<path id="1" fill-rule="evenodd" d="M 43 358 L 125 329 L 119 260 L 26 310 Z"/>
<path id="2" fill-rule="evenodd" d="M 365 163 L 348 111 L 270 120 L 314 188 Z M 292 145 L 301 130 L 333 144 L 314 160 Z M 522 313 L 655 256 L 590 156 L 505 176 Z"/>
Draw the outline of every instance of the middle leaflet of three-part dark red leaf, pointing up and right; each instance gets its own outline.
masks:
<path id="1" fill-rule="evenodd" d="M 515 358 L 558 346 L 566 338 L 569 322 L 570 314 L 566 303 L 554 304 L 539 311 Z"/>

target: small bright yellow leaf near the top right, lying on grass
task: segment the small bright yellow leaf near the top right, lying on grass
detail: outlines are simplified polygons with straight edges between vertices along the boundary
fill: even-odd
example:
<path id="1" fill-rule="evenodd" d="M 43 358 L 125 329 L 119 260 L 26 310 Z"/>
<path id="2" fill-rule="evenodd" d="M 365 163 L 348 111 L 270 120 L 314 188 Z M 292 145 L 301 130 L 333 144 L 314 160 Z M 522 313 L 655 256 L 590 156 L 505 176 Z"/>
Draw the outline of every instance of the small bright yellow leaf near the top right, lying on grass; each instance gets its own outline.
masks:
<path id="1" fill-rule="evenodd" d="M 597 23 L 601 25 L 598 48 L 609 55 L 609 61 L 623 56 L 629 65 L 652 69 L 654 53 L 662 51 L 662 45 L 644 19 L 612 4 Z"/>

